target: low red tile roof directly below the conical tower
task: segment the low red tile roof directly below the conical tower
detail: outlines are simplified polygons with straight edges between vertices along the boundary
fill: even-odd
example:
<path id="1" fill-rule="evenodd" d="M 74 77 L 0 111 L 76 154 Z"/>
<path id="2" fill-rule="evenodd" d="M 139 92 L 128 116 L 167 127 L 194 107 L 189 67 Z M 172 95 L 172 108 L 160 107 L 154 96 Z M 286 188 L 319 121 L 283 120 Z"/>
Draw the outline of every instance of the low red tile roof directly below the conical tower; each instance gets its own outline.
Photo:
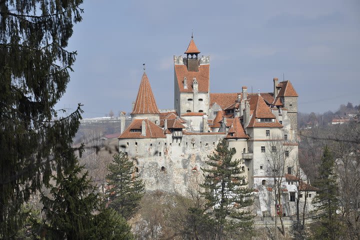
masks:
<path id="1" fill-rule="evenodd" d="M 142 136 L 141 131 L 131 131 L 131 129 L 141 129 L 142 120 L 145 121 L 146 135 Z M 117 138 L 164 138 L 165 135 L 161 127 L 147 118 L 134 119 Z"/>

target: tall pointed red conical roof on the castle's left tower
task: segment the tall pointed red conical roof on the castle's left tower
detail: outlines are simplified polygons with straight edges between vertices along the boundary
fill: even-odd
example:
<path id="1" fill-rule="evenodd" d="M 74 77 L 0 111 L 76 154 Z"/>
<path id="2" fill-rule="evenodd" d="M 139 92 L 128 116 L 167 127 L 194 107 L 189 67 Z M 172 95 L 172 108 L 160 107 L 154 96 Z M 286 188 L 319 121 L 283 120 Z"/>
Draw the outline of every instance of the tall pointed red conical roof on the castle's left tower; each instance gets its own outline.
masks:
<path id="1" fill-rule="evenodd" d="M 131 114 L 160 114 L 151 90 L 150 82 L 145 72 L 142 74 L 136 101 Z"/>

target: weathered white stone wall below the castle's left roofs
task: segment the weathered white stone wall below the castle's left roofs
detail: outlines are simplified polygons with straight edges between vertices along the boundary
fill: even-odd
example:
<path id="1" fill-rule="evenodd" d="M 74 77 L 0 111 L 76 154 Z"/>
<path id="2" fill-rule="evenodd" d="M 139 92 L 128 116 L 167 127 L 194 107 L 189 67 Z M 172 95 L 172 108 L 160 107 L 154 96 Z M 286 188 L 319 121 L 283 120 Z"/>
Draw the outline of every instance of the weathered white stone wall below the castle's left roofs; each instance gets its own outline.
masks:
<path id="1" fill-rule="evenodd" d="M 119 139 L 118 144 L 119 150 L 127 152 L 138 167 L 147 191 L 185 192 L 190 177 L 194 174 L 202 177 L 200 168 L 207 167 L 207 155 L 224 136 L 183 135 L 181 141 L 176 142 L 171 134 L 166 134 L 166 138 Z"/>

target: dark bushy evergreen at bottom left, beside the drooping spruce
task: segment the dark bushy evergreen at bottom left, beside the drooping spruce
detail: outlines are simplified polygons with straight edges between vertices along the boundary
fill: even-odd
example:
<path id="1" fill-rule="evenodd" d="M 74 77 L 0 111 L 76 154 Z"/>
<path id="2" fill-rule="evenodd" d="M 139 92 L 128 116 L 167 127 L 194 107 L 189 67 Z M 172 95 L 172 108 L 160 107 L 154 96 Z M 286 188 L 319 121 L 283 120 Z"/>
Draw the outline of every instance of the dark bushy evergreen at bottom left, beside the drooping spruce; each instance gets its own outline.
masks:
<path id="1" fill-rule="evenodd" d="M 81 171 L 83 167 L 76 163 L 68 173 L 52 176 L 56 185 L 49 185 L 49 196 L 41 196 L 45 222 L 34 222 L 34 234 L 42 239 L 59 240 L 132 239 L 126 220 L 103 207 L 87 171 Z"/>

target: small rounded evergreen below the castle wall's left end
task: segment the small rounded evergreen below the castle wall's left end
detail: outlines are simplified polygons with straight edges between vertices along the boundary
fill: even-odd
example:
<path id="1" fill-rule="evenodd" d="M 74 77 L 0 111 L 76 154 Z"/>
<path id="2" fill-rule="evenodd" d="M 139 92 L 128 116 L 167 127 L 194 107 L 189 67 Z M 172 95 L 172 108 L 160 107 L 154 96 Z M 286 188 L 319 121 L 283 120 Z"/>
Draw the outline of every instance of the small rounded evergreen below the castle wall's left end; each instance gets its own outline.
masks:
<path id="1" fill-rule="evenodd" d="M 109 206 L 129 219 L 139 209 L 145 185 L 136 173 L 133 162 L 129 161 L 123 152 L 113 155 L 108 170 L 110 173 L 106 178 L 109 185 Z"/>

